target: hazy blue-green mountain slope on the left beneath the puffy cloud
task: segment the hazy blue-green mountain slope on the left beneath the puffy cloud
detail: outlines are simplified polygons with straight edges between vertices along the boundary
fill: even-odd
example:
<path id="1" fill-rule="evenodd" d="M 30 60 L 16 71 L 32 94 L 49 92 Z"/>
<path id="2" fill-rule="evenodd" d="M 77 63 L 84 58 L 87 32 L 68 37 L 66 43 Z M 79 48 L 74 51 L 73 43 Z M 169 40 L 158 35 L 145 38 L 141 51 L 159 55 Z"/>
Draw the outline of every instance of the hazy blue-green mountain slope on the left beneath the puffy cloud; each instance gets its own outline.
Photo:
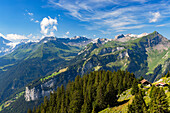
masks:
<path id="1" fill-rule="evenodd" d="M 15 91 L 37 79 L 64 67 L 78 54 L 79 46 L 74 44 L 88 43 L 89 39 L 64 39 L 46 37 L 38 43 L 27 43 L 11 54 L 0 58 L 0 100 L 9 97 Z M 71 44 L 72 45 L 71 45 Z"/>

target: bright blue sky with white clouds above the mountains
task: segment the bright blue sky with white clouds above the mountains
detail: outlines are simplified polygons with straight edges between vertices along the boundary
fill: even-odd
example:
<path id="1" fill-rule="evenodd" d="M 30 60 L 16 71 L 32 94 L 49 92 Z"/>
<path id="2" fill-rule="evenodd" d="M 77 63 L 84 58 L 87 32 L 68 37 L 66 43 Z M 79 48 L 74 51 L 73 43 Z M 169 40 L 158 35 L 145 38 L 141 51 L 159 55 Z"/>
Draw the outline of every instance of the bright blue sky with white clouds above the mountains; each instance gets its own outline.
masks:
<path id="1" fill-rule="evenodd" d="M 169 0 L 0 0 L 0 35 L 114 38 L 158 31 L 170 39 Z"/>

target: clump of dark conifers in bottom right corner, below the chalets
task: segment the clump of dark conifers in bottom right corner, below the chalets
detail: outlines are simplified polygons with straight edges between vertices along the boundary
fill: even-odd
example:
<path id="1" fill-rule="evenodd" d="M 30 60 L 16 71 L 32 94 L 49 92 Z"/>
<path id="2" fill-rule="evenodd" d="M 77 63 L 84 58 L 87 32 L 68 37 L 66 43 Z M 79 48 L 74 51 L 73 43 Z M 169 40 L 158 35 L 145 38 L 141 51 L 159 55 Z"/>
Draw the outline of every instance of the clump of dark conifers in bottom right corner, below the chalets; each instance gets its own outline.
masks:
<path id="1" fill-rule="evenodd" d="M 128 105 L 128 113 L 169 113 L 167 96 L 163 88 L 152 86 L 150 102 L 146 106 L 143 99 L 144 92 L 139 90 L 131 105 Z"/>

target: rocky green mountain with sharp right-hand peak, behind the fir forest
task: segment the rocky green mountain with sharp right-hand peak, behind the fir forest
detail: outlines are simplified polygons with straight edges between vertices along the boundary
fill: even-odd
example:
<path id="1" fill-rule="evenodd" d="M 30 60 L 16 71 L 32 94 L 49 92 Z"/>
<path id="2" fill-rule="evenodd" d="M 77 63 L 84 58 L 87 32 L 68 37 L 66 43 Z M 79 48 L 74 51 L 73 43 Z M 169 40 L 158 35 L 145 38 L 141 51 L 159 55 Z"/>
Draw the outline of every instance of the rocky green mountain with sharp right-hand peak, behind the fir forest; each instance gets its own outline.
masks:
<path id="1" fill-rule="evenodd" d="M 92 70 L 128 70 L 136 77 L 144 76 L 150 81 L 160 78 L 161 73 L 169 70 L 170 41 L 158 32 L 127 42 L 110 41 L 89 44 L 72 61 L 80 61 L 78 74 Z M 157 67 L 161 65 L 159 73 Z"/>

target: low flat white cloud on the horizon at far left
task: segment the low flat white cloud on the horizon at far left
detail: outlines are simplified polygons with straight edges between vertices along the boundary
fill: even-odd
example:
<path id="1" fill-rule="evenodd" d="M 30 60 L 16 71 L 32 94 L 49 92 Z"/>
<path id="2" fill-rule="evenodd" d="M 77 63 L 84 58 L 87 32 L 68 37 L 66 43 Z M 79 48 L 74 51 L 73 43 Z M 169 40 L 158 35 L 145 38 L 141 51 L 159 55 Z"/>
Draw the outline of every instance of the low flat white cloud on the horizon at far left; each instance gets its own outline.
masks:
<path id="1" fill-rule="evenodd" d="M 7 34 L 6 39 L 11 40 L 11 41 L 17 41 L 17 40 L 28 39 L 28 38 L 24 35 Z"/>

